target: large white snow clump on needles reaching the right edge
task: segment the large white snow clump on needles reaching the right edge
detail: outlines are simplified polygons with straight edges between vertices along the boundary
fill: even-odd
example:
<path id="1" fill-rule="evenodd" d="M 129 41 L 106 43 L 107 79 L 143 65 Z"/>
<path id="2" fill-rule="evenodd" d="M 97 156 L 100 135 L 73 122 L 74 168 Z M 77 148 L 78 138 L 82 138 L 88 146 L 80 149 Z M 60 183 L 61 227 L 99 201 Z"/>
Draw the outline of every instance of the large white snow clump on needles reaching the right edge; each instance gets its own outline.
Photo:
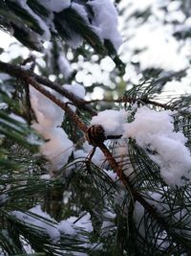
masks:
<path id="1" fill-rule="evenodd" d="M 154 151 L 150 157 L 159 165 L 167 184 L 180 186 L 184 184 L 182 177 L 191 178 L 191 154 L 184 135 L 174 131 L 171 111 L 157 112 L 143 106 L 138 108 L 135 120 L 123 128 L 123 138 L 134 138 L 141 148 Z"/>

